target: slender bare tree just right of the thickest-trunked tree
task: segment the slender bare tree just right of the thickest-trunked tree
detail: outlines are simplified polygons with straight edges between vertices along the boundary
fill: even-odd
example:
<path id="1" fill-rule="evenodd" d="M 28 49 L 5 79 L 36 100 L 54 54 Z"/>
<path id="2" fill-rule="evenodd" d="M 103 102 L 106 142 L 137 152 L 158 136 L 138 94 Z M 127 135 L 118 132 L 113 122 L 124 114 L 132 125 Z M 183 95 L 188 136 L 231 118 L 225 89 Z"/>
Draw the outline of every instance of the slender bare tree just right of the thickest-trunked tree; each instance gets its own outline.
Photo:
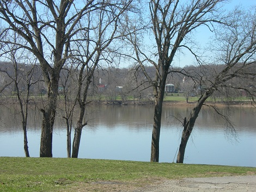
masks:
<path id="1" fill-rule="evenodd" d="M 79 21 L 80 26 L 86 27 L 87 30 L 81 30 L 74 35 L 74 38 L 79 40 L 70 50 L 72 57 L 69 61 L 76 70 L 77 87 L 74 91 L 76 92 L 74 103 L 64 117 L 68 135 L 70 135 L 68 130 L 70 130 L 71 122 L 76 121 L 72 143 L 71 157 L 73 158 L 78 157 L 82 129 L 88 123 L 86 117 L 87 98 L 94 72 L 113 63 L 112 49 L 118 48 L 116 41 L 125 35 L 125 31 L 118 26 L 124 20 L 125 15 L 133 9 L 131 3 L 132 0 L 102 2 L 97 11 L 91 11 Z M 72 114 L 76 104 L 79 112 L 77 119 L 73 120 L 74 115 Z M 67 142 L 70 142 L 70 139 Z"/>

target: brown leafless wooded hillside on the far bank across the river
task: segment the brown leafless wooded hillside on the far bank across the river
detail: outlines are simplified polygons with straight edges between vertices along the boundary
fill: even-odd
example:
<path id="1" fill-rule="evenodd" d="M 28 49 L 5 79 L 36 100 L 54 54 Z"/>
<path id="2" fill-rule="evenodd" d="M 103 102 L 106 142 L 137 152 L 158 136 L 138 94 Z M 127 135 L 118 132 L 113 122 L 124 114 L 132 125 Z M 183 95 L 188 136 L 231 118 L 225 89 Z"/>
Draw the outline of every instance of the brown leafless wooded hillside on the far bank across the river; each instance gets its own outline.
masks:
<path id="1" fill-rule="evenodd" d="M 208 70 L 210 73 L 214 73 L 217 68 L 221 67 L 224 67 L 224 65 L 209 65 Z M 45 97 L 47 95 L 44 78 L 42 77 L 42 72 L 39 64 L 33 65 L 17 63 L 16 65 L 14 65 L 14 63 L 11 62 L 1 61 L 0 69 L 0 96 L 2 96 L 2 98 L 17 96 L 15 78 L 17 78 L 17 85 L 19 86 L 19 91 L 27 93 L 27 84 L 29 83 L 27 77 L 28 75 L 30 76 L 29 78 L 31 78 L 31 85 L 29 86 L 29 96 Z M 108 67 L 99 69 L 94 72 L 92 83 L 90 84 L 88 90 L 88 95 L 90 96 L 89 100 L 93 99 L 94 101 L 105 101 L 107 103 L 114 103 L 115 100 L 117 100 L 117 97 L 121 96 L 121 98 L 123 99 L 122 102 L 125 104 L 125 101 L 129 96 L 134 97 L 139 103 L 140 100 L 147 101 L 152 98 L 153 95 L 150 86 L 140 86 L 144 79 L 143 74 L 140 74 L 140 78 L 137 76 L 135 80 L 131 69 L 132 68 L 130 67 L 121 69 L 117 67 Z M 154 72 L 154 67 L 152 66 L 146 66 L 145 69 L 148 72 L 151 71 L 151 74 L 153 74 Z M 194 73 L 199 73 L 200 71 L 200 67 L 198 66 L 183 67 L 186 76 L 191 76 L 191 74 L 186 73 L 186 71 L 191 71 L 192 69 L 194 70 Z M 176 70 L 181 69 L 177 68 Z M 63 73 L 61 73 L 60 75 L 58 92 L 59 95 L 73 94 L 73 96 L 75 97 L 77 90 L 74 89 L 74 84 L 78 83 L 76 78 L 70 77 L 71 72 L 67 73 L 67 71 L 69 70 L 63 71 Z M 77 71 L 72 71 L 72 73 L 75 77 L 77 77 Z M 202 94 L 202 91 L 204 91 L 205 89 L 205 85 L 194 82 L 193 78 L 184 77 L 182 79 L 182 76 L 179 73 L 173 73 L 172 76 L 169 76 L 167 78 L 167 82 L 174 84 L 175 92 L 182 92 L 187 102 L 188 98 L 190 98 L 191 96 L 200 96 Z M 231 83 L 233 85 L 241 84 L 239 78 L 234 78 L 230 82 L 230 84 Z M 99 85 L 103 85 L 104 89 L 100 90 Z M 117 89 L 117 87 L 120 86 L 121 88 Z M 254 79 L 243 82 L 243 84 L 241 84 L 240 90 L 229 90 L 233 91 L 232 94 L 229 94 L 229 99 L 236 100 L 241 96 L 245 97 L 247 96 L 247 94 L 244 89 L 250 90 L 254 87 Z M 227 99 L 227 94 L 225 94 L 225 92 L 227 91 L 228 90 L 226 89 L 224 92 L 222 91 L 222 93 L 216 93 L 212 96 L 213 100 L 215 102 L 224 102 L 225 99 Z"/>

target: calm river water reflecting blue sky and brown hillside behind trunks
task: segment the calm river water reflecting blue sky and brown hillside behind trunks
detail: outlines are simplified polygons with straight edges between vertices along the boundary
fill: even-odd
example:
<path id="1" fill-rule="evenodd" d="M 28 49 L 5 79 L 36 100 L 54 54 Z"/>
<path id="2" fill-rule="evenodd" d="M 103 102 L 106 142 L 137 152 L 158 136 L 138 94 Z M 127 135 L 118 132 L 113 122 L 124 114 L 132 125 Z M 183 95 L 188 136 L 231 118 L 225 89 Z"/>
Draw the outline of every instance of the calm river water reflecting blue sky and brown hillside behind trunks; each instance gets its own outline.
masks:
<path id="1" fill-rule="evenodd" d="M 164 106 L 160 135 L 160 162 L 176 162 L 182 127 L 178 118 L 191 107 Z M 222 107 L 223 113 L 228 113 Z M 153 106 L 90 106 L 88 125 L 81 138 L 79 158 L 150 160 Z M 24 157 L 21 122 L 15 110 L 0 108 L 0 156 Z M 41 114 L 29 117 L 28 146 L 31 157 L 39 157 Z M 53 157 L 66 157 L 66 130 L 59 110 L 53 130 Z M 232 107 L 231 121 L 237 138 L 208 108 L 196 121 L 188 141 L 184 163 L 256 167 L 256 114 L 251 107 Z"/>

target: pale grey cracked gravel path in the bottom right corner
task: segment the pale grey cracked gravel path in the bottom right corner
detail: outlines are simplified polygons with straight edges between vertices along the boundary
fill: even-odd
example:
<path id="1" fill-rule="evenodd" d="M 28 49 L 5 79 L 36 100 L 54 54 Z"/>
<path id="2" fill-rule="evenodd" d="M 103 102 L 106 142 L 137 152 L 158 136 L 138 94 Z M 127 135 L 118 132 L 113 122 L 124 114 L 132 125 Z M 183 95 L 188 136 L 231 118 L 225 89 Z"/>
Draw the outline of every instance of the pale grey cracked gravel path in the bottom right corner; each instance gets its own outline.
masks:
<path id="1" fill-rule="evenodd" d="M 256 175 L 167 180 L 133 192 L 254 192 Z"/>

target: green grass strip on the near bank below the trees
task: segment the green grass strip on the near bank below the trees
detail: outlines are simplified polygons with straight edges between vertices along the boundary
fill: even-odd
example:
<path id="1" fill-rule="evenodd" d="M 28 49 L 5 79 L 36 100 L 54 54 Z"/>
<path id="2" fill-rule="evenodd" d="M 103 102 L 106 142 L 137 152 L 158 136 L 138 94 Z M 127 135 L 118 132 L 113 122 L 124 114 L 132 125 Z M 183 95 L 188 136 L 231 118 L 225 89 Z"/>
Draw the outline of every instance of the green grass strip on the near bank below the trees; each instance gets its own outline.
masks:
<path id="1" fill-rule="evenodd" d="M 93 181 L 256 174 L 256 168 L 74 158 L 0 157 L 0 191 L 66 191 Z M 140 180 L 141 179 L 141 180 Z"/>

